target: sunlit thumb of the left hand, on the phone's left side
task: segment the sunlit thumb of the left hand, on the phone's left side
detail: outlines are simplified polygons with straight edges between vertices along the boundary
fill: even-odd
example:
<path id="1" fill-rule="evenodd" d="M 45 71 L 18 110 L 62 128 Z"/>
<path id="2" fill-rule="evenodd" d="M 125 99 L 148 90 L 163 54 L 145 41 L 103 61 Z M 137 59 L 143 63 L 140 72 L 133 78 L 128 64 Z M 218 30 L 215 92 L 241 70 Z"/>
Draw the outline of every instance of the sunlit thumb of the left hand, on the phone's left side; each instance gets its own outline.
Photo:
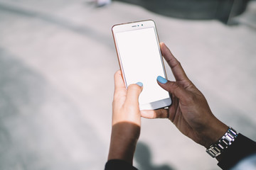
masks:
<path id="1" fill-rule="evenodd" d="M 127 89 L 127 98 L 125 103 L 132 106 L 139 106 L 139 94 L 142 93 L 143 84 L 138 82 L 137 84 L 130 84 Z"/>

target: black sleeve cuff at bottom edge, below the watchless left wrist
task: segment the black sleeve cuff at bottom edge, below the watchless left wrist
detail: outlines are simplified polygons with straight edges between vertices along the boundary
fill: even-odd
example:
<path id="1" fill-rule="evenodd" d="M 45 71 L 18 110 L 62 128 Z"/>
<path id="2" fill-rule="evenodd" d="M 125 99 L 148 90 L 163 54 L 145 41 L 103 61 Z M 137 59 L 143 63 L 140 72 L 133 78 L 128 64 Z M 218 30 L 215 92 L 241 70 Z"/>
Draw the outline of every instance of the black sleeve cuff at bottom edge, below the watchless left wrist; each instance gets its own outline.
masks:
<path id="1" fill-rule="evenodd" d="M 125 162 L 120 159 L 112 159 L 109 160 L 105 165 L 105 170 L 115 170 L 115 169 L 122 169 L 122 170 L 137 170 L 132 164 Z"/>

